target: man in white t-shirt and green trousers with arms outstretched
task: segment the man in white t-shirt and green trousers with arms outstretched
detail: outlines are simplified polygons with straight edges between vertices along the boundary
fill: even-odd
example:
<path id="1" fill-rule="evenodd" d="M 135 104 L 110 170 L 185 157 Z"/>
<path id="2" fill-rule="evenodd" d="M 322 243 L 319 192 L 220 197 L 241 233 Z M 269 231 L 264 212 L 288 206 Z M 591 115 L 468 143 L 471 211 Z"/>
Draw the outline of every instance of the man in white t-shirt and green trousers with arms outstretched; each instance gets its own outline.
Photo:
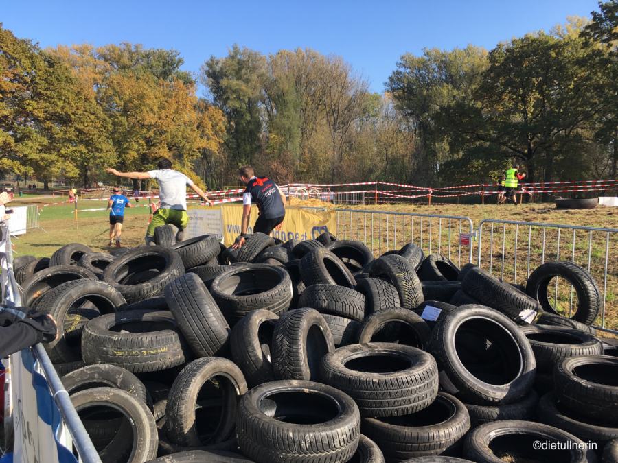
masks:
<path id="1" fill-rule="evenodd" d="M 109 174 L 119 177 L 145 180 L 155 178 L 159 182 L 159 202 L 161 206 L 152 216 L 152 220 L 146 229 L 146 244 L 154 241 L 155 228 L 166 224 L 172 224 L 178 228 L 176 241 L 182 241 L 184 230 L 189 224 L 187 215 L 187 187 L 195 191 L 205 202 L 212 206 L 213 202 L 207 198 L 200 187 L 179 171 L 172 169 L 172 161 L 162 158 L 157 163 L 157 170 L 148 172 L 119 172 L 116 169 L 105 169 Z"/>

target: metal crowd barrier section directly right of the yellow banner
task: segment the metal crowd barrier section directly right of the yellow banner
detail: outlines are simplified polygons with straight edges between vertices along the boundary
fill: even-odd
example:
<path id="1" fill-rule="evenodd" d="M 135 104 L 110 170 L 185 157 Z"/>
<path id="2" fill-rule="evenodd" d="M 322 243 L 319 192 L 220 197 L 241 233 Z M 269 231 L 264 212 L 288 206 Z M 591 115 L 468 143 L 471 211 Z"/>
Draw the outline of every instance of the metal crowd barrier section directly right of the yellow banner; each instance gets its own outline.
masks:
<path id="1" fill-rule="evenodd" d="M 429 254 L 444 254 L 457 265 L 472 262 L 470 217 L 357 209 L 335 209 L 335 213 L 337 237 L 363 241 L 376 255 L 412 242 Z"/>

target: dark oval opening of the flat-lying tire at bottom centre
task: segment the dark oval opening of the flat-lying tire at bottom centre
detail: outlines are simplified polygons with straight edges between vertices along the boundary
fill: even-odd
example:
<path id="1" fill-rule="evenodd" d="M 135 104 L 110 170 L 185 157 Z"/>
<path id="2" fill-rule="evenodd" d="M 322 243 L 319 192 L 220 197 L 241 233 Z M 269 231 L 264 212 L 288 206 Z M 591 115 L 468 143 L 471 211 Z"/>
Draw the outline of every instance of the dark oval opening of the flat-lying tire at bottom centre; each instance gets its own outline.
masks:
<path id="1" fill-rule="evenodd" d="M 271 418 L 292 425 L 319 425 L 339 414 L 339 405 L 334 399 L 313 391 L 267 394 L 258 407 Z"/>

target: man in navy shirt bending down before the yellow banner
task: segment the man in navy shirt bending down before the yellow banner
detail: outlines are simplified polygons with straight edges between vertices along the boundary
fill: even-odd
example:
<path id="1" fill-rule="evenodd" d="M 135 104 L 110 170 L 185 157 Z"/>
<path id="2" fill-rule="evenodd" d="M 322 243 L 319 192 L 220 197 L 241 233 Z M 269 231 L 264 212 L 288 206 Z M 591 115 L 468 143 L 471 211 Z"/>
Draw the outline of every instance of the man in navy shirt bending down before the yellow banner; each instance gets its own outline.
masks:
<path id="1" fill-rule="evenodd" d="M 248 165 L 241 167 L 238 174 L 240 181 L 247 185 L 247 189 L 242 195 L 242 223 L 240 224 L 240 236 L 236 238 L 233 245 L 234 249 L 244 244 L 251 217 L 251 204 L 257 204 L 258 211 L 260 211 L 253 227 L 253 233 L 260 232 L 270 235 L 273 228 L 279 226 L 286 215 L 284 207 L 286 197 L 273 180 L 268 177 L 255 176 L 253 167 Z"/>

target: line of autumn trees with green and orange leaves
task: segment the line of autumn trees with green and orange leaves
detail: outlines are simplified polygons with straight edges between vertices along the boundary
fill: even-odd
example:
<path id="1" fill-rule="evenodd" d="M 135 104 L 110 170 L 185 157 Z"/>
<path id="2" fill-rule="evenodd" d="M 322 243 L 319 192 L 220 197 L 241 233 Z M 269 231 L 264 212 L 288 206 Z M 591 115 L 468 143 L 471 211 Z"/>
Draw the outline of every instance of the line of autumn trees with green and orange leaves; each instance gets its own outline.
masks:
<path id="1" fill-rule="evenodd" d="M 513 162 L 531 181 L 616 178 L 617 31 L 613 0 L 491 51 L 404 54 L 379 94 L 311 49 L 233 45 L 194 75 L 173 49 L 41 49 L 0 25 L 0 173 L 87 187 L 167 156 L 210 189 L 244 164 L 280 183 L 455 185 Z"/>

